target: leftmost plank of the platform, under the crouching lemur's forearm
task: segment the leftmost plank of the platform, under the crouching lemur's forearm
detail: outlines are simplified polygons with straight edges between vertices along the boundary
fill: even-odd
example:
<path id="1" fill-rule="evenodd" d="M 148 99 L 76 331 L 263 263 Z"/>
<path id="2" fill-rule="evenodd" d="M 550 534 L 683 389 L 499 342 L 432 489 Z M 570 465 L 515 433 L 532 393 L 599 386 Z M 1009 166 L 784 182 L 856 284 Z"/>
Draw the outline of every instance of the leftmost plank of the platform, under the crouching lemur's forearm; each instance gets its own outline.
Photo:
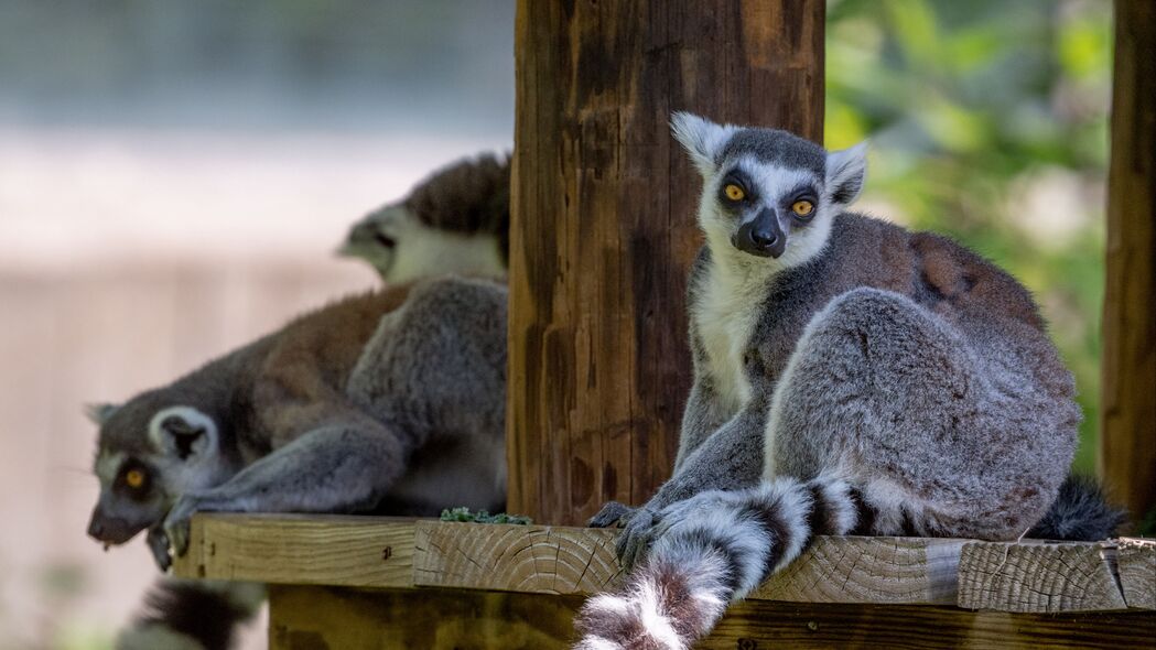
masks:
<path id="1" fill-rule="evenodd" d="M 180 577 L 410 586 L 412 519 L 336 515 L 195 515 Z"/>

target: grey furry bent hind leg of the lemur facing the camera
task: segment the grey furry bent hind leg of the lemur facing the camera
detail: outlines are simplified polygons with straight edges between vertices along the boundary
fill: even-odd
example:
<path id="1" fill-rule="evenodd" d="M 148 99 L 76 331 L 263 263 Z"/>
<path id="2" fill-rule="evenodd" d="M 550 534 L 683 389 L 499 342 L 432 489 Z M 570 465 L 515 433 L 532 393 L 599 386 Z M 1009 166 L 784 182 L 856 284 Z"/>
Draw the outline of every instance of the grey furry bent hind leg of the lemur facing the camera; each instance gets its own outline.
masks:
<path id="1" fill-rule="evenodd" d="M 1048 409 L 995 334 L 966 338 L 905 296 L 854 289 L 815 316 L 777 386 L 765 475 L 844 477 L 875 510 L 862 532 L 1015 538 L 1070 463 Z"/>

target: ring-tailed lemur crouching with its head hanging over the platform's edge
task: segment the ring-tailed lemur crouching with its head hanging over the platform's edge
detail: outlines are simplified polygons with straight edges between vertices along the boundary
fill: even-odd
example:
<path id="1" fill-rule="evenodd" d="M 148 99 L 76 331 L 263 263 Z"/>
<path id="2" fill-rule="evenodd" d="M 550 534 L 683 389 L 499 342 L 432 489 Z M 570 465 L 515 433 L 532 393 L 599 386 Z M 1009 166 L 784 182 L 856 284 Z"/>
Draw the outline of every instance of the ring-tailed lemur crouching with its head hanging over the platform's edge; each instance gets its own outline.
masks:
<path id="1" fill-rule="evenodd" d="M 116 545 L 148 530 L 163 570 L 198 511 L 501 510 L 506 293 L 447 278 L 349 297 L 94 408 L 101 496 L 89 534 Z M 184 633 L 223 648 L 221 629 L 253 611 L 246 591 L 162 584 L 119 647 Z M 190 614 L 206 608 L 212 625 Z"/>

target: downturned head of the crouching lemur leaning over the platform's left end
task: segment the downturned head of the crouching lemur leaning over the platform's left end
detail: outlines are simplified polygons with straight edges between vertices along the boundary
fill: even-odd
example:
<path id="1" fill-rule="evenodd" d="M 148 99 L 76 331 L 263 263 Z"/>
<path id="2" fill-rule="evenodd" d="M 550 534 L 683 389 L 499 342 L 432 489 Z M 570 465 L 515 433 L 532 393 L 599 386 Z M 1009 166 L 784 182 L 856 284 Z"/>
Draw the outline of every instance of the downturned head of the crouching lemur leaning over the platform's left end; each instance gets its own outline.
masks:
<path id="1" fill-rule="evenodd" d="M 124 544 L 161 522 L 178 496 L 215 486 L 235 473 L 221 453 L 216 421 L 193 406 L 173 404 L 164 391 L 123 406 L 90 406 L 101 427 L 94 472 L 101 496 L 88 534 Z"/>

